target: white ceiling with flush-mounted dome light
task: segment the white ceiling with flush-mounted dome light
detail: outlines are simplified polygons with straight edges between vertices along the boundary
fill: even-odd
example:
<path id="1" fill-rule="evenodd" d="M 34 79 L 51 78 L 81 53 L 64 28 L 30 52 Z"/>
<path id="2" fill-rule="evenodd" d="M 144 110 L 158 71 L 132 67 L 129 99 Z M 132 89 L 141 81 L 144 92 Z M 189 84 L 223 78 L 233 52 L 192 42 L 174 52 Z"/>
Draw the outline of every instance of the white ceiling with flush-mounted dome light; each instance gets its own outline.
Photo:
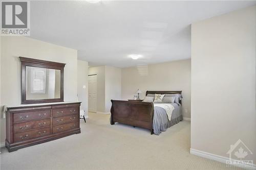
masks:
<path id="1" fill-rule="evenodd" d="M 78 50 L 89 65 L 190 58 L 191 23 L 256 1 L 31 1 L 31 37 Z M 143 57 L 132 60 L 128 55 Z"/>

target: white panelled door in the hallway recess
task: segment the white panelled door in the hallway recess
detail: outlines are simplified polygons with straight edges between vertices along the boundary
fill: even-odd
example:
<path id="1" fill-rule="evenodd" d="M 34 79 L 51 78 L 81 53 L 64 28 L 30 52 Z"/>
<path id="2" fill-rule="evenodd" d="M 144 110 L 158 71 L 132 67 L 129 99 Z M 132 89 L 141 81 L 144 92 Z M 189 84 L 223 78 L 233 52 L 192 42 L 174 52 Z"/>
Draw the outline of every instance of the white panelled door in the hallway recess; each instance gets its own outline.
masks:
<path id="1" fill-rule="evenodd" d="M 97 111 L 97 75 L 88 76 L 88 110 Z"/>

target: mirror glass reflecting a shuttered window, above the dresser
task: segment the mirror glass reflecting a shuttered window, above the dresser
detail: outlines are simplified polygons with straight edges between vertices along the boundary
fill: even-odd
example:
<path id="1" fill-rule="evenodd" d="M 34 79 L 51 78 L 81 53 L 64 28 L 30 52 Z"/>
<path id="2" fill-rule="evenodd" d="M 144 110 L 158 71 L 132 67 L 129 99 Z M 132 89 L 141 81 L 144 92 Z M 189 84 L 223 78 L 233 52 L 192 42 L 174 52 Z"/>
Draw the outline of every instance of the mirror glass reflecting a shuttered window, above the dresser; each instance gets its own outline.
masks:
<path id="1" fill-rule="evenodd" d="M 26 100 L 60 99 L 60 70 L 26 66 Z"/>

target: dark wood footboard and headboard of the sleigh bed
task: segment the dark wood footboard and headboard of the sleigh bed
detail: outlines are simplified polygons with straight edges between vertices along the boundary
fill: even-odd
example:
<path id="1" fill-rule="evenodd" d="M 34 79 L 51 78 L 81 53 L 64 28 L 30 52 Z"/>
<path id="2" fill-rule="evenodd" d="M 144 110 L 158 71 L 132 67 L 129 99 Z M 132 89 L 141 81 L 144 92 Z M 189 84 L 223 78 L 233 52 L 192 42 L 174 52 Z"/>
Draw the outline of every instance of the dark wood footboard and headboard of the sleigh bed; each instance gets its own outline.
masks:
<path id="1" fill-rule="evenodd" d="M 182 91 L 146 91 L 147 94 L 181 94 Z M 116 122 L 134 127 L 148 129 L 151 134 L 153 130 L 154 104 L 137 101 L 111 100 L 110 124 Z M 180 101 L 181 104 L 181 101 Z"/>

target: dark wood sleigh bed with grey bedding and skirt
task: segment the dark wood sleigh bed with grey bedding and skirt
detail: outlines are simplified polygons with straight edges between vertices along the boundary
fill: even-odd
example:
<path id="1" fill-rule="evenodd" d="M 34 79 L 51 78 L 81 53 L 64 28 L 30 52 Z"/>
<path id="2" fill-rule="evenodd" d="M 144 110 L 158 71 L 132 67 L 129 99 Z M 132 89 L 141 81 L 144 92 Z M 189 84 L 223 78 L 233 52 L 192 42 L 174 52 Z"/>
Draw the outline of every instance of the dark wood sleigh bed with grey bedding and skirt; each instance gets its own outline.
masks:
<path id="1" fill-rule="evenodd" d="M 181 94 L 182 91 L 146 91 L 148 94 Z M 167 128 L 182 121 L 181 100 L 179 104 L 168 103 L 172 105 L 174 110 L 170 120 L 166 114 L 166 110 L 158 107 L 153 102 L 137 102 L 137 101 L 119 101 L 111 100 L 111 117 L 110 123 L 121 123 L 148 129 L 151 134 L 159 135 L 161 131 L 166 131 Z M 162 104 L 162 103 L 161 103 Z"/>

